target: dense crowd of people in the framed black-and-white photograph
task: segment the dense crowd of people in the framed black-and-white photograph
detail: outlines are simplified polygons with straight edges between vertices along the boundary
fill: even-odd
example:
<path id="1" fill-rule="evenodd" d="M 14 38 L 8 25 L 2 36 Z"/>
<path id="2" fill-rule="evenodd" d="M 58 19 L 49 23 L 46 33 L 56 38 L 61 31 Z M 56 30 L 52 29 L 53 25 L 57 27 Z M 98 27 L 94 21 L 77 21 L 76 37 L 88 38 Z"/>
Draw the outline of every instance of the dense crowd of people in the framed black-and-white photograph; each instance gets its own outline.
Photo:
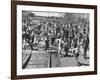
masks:
<path id="1" fill-rule="evenodd" d="M 56 49 L 59 55 L 79 55 L 87 58 L 89 52 L 89 23 L 67 22 L 60 17 L 29 17 L 22 20 L 23 48 L 33 50 L 44 41 L 44 50 Z M 64 54 L 65 53 L 65 54 Z"/>

